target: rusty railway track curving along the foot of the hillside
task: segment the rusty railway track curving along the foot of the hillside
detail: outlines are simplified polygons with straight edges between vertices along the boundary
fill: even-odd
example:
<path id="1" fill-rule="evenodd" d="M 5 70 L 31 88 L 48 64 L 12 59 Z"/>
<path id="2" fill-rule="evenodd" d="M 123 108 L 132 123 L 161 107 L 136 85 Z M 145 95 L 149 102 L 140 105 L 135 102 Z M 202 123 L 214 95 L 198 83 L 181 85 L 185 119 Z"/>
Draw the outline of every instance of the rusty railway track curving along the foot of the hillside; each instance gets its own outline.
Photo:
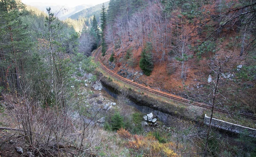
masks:
<path id="1" fill-rule="evenodd" d="M 101 47 L 97 50 L 97 52 L 94 54 L 94 58 L 95 58 L 95 61 L 99 61 L 98 59 L 98 55 L 99 55 L 99 52 L 101 50 Z M 135 87 L 138 87 L 140 89 L 143 89 L 143 90 L 146 90 L 148 92 L 151 92 L 151 93 L 154 93 L 154 94 L 157 94 L 159 96 L 164 96 L 166 98 L 169 98 L 169 99 L 173 99 L 173 100 L 176 100 L 178 102 L 184 102 L 184 103 L 187 103 L 187 104 L 190 104 L 190 105 L 195 105 L 195 106 L 199 106 L 201 108 L 207 108 L 207 109 L 212 109 L 211 106 L 209 105 L 206 105 L 204 103 L 199 103 L 199 102 L 192 102 L 188 99 L 185 99 L 185 98 L 182 98 L 180 96 L 175 96 L 175 95 L 172 95 L 172 94 L 169 94 L 169 93 L 163 93 L 163 92 L 160 92 L 160 91 L 157 91 L 157 90 L 153 90 L 149 87 L 145 87 L 141 84 L 137 84 L 137 83 L 134 83 L 133 81 L 131 80 L 128 80 L 126 78 L 123 78 L 122 76 L 119 76 L 117 75 L 116 73 L 113 73 L 113 71 L 109 70 L 107 67 L 105 67 L 105 65 L 103 65 L 101 62 L 100 62 L 100 67 L 105 71 L 107 72 L 109 75 L 127 83 L 127 84 L 131 84 Z M 227 113 L 227 114 L 231 114 L 231 115 L 234 115 L 234 113 L 231 113 L 231 112 L 228 112 L 227 110 L 222 110 L 222 109 L 218 109 L 218 108 L 214 108 L 215 111 L 218 111 L 218 112 L 221 112 L 221 113 Z M 244 114 L 244 113 L 239 113 L 241 116 L 244 116 L 246 118 L 250 118 L 250 119 L 254 119 L 256 120 L 256 116 L 251 116 L 251 115 L 247 115 L 247 114 Z"/>

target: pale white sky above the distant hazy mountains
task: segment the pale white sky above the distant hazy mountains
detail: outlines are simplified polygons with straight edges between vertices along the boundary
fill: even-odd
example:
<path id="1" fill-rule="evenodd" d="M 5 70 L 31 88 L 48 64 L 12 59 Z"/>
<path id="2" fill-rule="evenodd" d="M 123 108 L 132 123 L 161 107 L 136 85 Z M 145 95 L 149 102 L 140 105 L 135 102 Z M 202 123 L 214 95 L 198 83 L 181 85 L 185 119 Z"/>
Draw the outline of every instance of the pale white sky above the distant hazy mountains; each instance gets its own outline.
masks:
<path id="1" fill-rule="evenodd" d="M 108 0 L 21 0 L 31 6 L 69 6 L 75 7 L 81 4 L 97 5 Z"/>

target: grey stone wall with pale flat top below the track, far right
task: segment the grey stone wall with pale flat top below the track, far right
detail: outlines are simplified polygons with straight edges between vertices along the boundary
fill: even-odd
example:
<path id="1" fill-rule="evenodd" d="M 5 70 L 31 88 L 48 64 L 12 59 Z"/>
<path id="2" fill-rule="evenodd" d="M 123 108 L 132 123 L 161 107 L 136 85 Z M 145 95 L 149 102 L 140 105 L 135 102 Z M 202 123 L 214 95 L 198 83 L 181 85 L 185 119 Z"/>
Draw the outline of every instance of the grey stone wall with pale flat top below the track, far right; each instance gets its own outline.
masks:
<path id="1" fill-rule="evenodd" d="M 210 117 L 205 114 L 204 115 L 204 124 L 209 125 L 209 122 L 210 122 Z M 247 132 L 247 134 L 250 137 L 256 137 L 256 129 L 244 127 L 244 126 L 233 124 L 230 122 L 225 122 L 223 120 L 212 118 L 211 125 L 216 128 L 220 128 L 220 129 L 223 129 L 226 131 L 231 131 L 231 132 L 235 132 L 235 133 L 239 133 L 239 134 Z"/>

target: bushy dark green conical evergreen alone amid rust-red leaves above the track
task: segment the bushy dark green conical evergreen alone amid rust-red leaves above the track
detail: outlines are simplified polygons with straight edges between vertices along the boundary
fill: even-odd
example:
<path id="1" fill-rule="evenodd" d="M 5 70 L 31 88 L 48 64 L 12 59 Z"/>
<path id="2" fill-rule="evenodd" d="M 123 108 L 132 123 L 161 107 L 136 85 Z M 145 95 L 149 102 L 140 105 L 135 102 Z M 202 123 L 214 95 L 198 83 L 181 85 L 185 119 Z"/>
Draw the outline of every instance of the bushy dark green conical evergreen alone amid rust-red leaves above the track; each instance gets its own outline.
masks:
<path id="1" fill-rule="evenodd" d="M 146 48 L 141 52 L 140 69 L 146 76 L 150 76 L 154 69 L 153 55 L 151 51 L 152 45 L 148 42 Z"/>

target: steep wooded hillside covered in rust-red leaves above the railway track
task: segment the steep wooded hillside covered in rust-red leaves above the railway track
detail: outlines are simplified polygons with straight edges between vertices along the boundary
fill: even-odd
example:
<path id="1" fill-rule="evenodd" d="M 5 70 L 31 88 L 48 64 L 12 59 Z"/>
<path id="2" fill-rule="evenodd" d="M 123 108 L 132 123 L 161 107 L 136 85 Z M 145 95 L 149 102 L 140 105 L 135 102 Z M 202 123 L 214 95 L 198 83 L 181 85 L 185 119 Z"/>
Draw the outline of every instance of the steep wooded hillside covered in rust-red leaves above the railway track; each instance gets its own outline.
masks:
<path id="1" fill-rule="evenodd" d="M 219 74 L 215 105 L 256 113 L 256 3 L 178 2 L 111 1 L 102 61 L 133 81 L 209 104 Z M 153 57 L 150 76 L 138 75 L 143 50 Z"/>

